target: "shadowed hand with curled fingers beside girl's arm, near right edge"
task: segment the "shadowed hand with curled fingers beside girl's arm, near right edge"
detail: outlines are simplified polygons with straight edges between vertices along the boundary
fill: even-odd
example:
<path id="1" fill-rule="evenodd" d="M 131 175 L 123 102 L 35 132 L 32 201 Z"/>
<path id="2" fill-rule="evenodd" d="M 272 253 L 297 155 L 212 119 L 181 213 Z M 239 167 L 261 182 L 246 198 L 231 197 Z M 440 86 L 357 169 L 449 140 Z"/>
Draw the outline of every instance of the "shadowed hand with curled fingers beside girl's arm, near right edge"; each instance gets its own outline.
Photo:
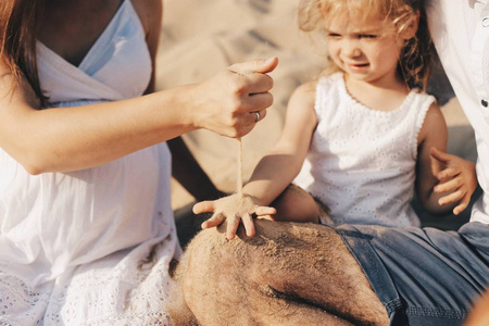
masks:
<path id="1" fill-rule="evenodd" d="M 450 192 L 441 197 L 438 203 L 447 205 L 460 201 L 453 209 L 453 214 L 459 215 L 467 208 L 471 197 L 477 188 L 475 164 L 456 155 L 441 152 L 436 148 L 431 148 L 430 153 L 431 160 L 436 160 L 443 166 L 435 174 L 440 183 L 435 186 L 434 191 L 436 193 Z"/>

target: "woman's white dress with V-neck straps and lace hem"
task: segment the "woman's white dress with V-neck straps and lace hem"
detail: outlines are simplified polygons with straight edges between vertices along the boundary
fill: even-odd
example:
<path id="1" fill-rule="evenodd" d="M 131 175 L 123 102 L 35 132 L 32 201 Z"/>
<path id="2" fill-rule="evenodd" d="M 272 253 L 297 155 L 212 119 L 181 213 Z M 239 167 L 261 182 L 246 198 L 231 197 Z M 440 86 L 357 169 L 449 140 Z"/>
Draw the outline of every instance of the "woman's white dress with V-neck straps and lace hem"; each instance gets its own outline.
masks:
<path id="1" fill-rule="evenodd" d="M 42 43 L 38 63 L 62 108 L 140 96 L 151 74 L 129 0 L 78 67 Z M 181 252 L 170 177 L 166 143 L 37 176 L 0 149 L 0 325 L 166 324 L 168 265 Z"/>

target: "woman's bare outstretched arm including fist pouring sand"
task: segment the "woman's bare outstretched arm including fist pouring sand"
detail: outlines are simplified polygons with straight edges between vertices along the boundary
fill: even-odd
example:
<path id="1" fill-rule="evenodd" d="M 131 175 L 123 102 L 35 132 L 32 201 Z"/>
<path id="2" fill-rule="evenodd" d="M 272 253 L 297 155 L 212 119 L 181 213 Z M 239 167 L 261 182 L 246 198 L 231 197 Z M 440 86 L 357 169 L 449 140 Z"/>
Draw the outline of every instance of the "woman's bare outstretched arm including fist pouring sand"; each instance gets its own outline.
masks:
<path id="1" fill-rule="evenodd" d="M 0 63 L 0 146 L 39 174 L 97 166 L 199 128 L 240 137 L 255 125 L 252 112 L 272 104 L 266 73 L 276 65 L 235 64 L 203 83 L 140 98 L 36 110 L 27 83 L 17 86 Z"/>

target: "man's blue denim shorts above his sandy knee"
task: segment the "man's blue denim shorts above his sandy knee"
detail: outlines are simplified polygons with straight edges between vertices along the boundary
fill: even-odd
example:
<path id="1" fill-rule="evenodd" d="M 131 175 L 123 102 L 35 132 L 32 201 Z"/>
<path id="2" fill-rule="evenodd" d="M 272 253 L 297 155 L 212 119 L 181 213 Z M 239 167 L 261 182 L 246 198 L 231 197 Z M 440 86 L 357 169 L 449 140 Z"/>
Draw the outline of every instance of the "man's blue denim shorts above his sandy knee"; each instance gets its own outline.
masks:
<path id="1" fill-rule="evenodd" d="M 336 227 L 390 325 L 462 325 L 489 286 L 489 225 L 435 228 Z"/>

